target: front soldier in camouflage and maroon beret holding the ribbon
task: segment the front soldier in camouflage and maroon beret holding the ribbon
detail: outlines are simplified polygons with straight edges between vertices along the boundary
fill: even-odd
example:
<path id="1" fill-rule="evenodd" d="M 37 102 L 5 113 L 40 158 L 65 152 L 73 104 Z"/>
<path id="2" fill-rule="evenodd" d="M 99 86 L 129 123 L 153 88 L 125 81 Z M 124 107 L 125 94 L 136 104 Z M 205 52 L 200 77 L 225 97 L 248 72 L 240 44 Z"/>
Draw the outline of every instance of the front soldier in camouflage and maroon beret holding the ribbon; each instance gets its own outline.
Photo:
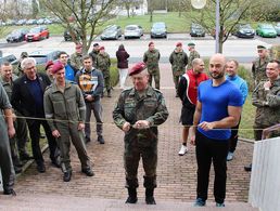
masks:
<path id="1" fill-rule="evenodd" d="M 125 170 L 127 203 L 137 202 L 139 186 L 137 172 L 142 158 L 145 187 L 145 202 L 155 205 L 157 126 L 166 121 L 168 110 L 163 94 L 149 85 L 149 74 L 144 63 L 138 63 L 130 71 L 133 88 L 122 92 L 113 111 L 115 124 L 125 132 Z"/>

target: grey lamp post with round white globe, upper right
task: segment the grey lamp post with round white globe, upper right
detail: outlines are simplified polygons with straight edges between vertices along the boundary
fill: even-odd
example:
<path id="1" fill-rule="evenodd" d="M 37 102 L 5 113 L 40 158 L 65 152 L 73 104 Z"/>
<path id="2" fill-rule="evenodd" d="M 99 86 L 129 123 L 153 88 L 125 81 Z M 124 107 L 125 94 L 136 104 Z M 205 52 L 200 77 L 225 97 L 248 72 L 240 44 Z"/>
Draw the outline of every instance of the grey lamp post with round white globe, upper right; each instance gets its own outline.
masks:
<path id="1" fill-rule="evenodd" d="M 206 0 L 191 0 L 191 4 L 195 9 L 203 9 L 206 5 Z M 216 30 L 215 30 L 215 38 L 216 38 L 216 53 L 219 52 L 219 0 L 216 0 Z"/>

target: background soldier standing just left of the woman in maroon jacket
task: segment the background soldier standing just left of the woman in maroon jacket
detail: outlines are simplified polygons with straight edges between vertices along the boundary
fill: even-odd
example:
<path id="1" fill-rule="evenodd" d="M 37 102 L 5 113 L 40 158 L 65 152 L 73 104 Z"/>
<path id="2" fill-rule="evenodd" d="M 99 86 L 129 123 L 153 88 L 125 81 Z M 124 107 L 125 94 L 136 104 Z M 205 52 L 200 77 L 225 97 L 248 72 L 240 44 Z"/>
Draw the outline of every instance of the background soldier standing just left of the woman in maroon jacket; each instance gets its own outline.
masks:
<path id="1" fill-rule="evenodd" d="M 111 95 L 111 77 L 110 77 L 110 66 L 111 66 L 111 60 L 110 55 L 105 52 L 104 47 L 100 47 L 99 54 L 97 56 L 97 69 L 101 70 L 103 74 L 105 88 L 107 91 L 107 97 L 112 97 Z M 103 93 L 102 95 L 103 96 Z"/>

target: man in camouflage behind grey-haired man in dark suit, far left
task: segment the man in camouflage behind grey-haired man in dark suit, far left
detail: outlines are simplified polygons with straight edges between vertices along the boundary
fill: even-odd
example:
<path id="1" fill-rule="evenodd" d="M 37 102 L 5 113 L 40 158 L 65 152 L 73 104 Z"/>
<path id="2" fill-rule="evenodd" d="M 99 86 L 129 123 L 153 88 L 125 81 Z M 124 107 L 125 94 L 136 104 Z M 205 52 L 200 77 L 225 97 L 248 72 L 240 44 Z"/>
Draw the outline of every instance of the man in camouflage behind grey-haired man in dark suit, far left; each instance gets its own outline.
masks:
<path id="1" fill-rule="evenodd" d="M 0 82 L 4 88 L 10 102 L 11 102 L 11 95 L 13 90 L 13 81 L 15 79 L 17 79 L 17 76 L 13 74 L 13 66 L 9 62 L 3 63 L 1 65 Z M 15 119 L 14 121 L 16 136 L 10 139 L 10 144 L 11 144 L 12 159 L 14 163 L 15 173 L 20 173 L 22 171 L 22 168 L 21 168 L 22 163 L 20 162 L 20 159 L 18 159 L 17 149 L 20 153 L 21 160 L 23 161 L 28 160 L 30 159 L 30 156 L 26 151 L 26 142 L 28 140 L 26 120 L 23 117 L 21 117 L 22 115 L 15 109 L 14 109 L 14 114 L 20 118 Z M 16 144 L 17 144 L 17 149 L 16 149 Z"/>

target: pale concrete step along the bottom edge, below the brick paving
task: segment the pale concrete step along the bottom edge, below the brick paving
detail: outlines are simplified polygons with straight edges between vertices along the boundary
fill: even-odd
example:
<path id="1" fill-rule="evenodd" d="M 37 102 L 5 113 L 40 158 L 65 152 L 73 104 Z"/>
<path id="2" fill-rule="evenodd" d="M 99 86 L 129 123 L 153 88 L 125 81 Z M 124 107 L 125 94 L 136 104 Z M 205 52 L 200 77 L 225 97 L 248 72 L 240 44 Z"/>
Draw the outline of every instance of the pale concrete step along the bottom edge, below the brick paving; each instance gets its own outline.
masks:
<path id="1" fill-rule="evenodd" d="M 155 210 L 155 211 L 220 211 L 214 202 L 208 202 L 205 208 L 193 208 L 193 202 L 163 201 L 156 200 L 156 206 L 147 206 L 143 199 L 136 205 L 126 205 L 119 199 L 81 198 L 56 195 L 23 195 L 23 196 L 0 196 L 0 210 L 97 210 L 97 211 L 125 211 L 125 210 Z M 227 211 L 257 211 L 245 202 L 227 202 Z"/>

